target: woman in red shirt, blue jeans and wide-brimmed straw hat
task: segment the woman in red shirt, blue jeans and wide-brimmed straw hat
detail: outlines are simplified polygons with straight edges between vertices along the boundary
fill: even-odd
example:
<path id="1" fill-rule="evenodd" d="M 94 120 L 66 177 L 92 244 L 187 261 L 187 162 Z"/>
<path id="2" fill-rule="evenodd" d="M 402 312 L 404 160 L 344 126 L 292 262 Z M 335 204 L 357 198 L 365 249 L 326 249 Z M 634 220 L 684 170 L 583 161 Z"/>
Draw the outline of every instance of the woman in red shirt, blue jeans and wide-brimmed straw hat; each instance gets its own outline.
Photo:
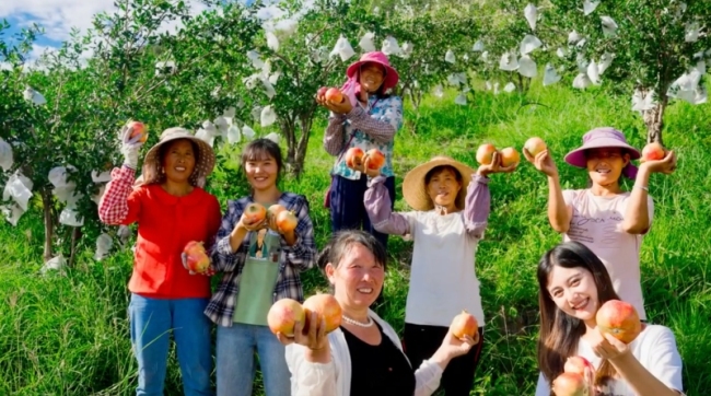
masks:
<path id="1" fill-rule="evenodd" d="M 190 241 L 208 247 L 220 228 L 220 203 L 202 189 L 214 166 L 209 144 L 183 128 L 163 131 L 133 182 L 140 136 L 121 131 L 125 162 L 112 171 L 98 217 L 106 224 L 138 223 L 133 273 L 128 283 L 131 343 L 138 360 L 137 395 L 163 395 L 168 338 L 177 358 L 186 395 L 212 395 L 210 321 L 203 311 L 210 280 L 185 266 Z"/>

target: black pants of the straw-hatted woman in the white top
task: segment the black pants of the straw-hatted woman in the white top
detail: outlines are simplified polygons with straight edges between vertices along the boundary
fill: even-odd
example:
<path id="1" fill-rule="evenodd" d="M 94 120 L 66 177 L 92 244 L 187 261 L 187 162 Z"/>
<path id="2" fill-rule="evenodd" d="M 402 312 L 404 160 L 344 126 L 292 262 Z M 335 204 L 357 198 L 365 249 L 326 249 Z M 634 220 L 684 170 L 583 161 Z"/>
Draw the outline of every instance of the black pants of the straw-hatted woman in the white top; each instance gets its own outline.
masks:
<path id="1" fill-rule="evenodd" d="M 405 324 L 404 348 L 412 369 L 417 370 L 423 360 L 430 359 L 442 345 L 448 328 Z M 479 327 L 479 343 L 471 347 L 465 356 L 454 358 L 442 373 L 440 388 L 446 396 L 469 396 L 474 385 L 474 374 L 481 357 L 483 327 Z"/>

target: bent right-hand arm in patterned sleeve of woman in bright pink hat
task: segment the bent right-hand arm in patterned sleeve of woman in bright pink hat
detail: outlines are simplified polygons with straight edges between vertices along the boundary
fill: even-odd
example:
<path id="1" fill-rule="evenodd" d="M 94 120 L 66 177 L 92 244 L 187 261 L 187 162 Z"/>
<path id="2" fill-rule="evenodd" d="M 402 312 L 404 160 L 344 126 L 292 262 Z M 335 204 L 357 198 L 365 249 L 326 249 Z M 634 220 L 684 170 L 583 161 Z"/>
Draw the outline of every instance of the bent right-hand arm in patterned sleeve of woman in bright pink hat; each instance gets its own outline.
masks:
<path id="1" fill-rule="evenodd" d="M 382 115 L 373 117 L 363 107 L 353 106 L 346 114 L 353 129 L 358 129 L 372 137 L 380 143 L 387 143 L 395 138 L 395 133 L 403 127 L 403 100 L 391 96 L 384 101 L 385 109 Z"/>

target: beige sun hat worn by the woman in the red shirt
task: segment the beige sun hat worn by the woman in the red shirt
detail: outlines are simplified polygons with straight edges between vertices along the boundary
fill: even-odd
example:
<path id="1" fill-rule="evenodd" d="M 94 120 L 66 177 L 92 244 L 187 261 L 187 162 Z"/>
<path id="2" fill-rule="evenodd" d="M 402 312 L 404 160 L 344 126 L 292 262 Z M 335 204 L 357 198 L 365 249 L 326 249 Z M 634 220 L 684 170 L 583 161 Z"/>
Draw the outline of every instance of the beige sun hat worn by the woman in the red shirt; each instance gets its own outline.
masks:
<path id="1" fill-rule="evenodd" d="M 214 168 L 214 151 L 205 140 L 197 138 L 185 128 L 168 128 L 161 133 L 161 140 L 153 145 L 143 159 L 141 176 L 136 180 L 137 186 L 161 183 L 165 178 L 163 165 L 159 158 L 162 145 L 178 139 L 188 139 L 198 147 L 195 170 L 190 175 L 190 184 L 200 188 L 205 187 L 207 177 Z"/>

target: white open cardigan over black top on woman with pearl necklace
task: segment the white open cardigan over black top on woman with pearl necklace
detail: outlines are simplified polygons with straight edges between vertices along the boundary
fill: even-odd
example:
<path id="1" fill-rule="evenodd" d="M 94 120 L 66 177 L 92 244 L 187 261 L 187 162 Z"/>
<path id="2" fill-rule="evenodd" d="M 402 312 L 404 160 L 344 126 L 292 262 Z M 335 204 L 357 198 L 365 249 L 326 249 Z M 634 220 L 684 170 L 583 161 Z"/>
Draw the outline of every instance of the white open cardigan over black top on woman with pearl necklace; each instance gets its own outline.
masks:
<path id="1" fill-rule="evenodd" d="M 373 311 L 369 311 L 369 315 L 381 325 L 383 334 L 401 351 L 403 345 L 395 329 Z M 350 396 L 351 360 L 343 331 L 338 328 L 330 333 L 328 342 L 330 362 L 325 364 L 306 361 L 304 346 L 292 343 L 287 347 L 287 364 L 291 372 L 291 396 Z M 377 359 L 377 357 L 373 358 Z M 415 396 L 432 395 L 440 386 L 441 378 L 440 364 L 429 360 L 423 361 L 415 372 Z"/>

